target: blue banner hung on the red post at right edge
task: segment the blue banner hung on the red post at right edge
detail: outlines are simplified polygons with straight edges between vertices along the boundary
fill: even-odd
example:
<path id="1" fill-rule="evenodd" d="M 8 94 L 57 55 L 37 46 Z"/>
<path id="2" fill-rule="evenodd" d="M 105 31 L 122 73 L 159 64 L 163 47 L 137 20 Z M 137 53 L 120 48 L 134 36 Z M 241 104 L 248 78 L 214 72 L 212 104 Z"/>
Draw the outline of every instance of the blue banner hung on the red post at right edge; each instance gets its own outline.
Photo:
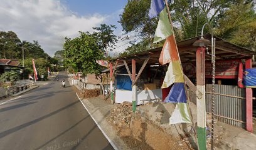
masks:
<path id="1" fill-rule="evenodd" d="M 245 69 L 243 75 L 243 84 L 251 88 L 256 88 L 256 69 Z"/>

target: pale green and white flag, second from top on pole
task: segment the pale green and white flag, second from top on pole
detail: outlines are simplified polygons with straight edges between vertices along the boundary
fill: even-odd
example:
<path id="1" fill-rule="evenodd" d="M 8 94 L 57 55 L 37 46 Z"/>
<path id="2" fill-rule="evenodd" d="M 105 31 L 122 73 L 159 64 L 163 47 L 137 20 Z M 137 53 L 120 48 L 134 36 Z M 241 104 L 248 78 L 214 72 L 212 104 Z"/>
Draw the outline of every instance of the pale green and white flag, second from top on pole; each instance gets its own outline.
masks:
<path id="1" fill-rule="evenodd" d="M 173 31 L 171 30 L 171 24 L 168 19 L 168 14 L 166 9 L 163 9 L 163 11 L 161 11 L 159 15 L 159 21 L 154 36 L 154 43 L 166 39 L 166 37 L 171 36 L 171 34 L 173 34 Z"/>

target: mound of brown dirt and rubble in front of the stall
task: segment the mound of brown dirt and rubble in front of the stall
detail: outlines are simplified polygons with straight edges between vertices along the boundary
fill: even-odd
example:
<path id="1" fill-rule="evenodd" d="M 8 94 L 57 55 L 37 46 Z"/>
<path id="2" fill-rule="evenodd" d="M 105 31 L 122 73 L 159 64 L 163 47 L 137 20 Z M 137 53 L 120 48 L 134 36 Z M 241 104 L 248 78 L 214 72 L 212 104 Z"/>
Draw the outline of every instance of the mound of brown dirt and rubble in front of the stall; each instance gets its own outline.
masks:
<path id="1" fill-rule="evenodd" d="M 112 108 L 108 121 L 129 149 L 190 149 L 182 139 L 174 138 L 141 116 L 141 112 L 133 113 L 131 103 L 125 102 Z"/>

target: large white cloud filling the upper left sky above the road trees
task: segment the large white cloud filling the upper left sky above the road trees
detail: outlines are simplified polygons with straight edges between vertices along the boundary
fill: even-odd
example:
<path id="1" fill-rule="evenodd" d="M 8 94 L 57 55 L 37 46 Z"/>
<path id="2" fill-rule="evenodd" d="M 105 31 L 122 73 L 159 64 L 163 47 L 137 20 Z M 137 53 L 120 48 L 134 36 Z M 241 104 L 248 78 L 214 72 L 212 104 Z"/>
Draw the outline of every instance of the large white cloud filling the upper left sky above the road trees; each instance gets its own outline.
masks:
<path id="1" fill-rule="evenodd" d="M 0 30 L 14 31 L 21 40 L 38 40 L 46 53 L 53 56 L 62 49 L 64 37 L 78 31 L 92 31 L 107 16 L 78 16 L 60 0 L 0 0 Z"/>

